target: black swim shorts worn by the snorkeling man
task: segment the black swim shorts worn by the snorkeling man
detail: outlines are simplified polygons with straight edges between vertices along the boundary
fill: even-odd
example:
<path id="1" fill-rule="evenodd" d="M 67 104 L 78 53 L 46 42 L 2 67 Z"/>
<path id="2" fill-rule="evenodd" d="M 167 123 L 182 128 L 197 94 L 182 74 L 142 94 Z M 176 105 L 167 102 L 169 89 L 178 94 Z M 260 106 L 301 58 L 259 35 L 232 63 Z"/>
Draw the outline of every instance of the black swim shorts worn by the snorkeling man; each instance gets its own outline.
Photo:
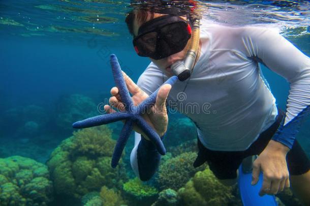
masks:
<path id="1" fill-rule="evenodd" d="M 194 162 L 194 167 L 207 162 L 216 178 L 220 180 L 237 178 L 237 169 L 242 160 L 248 156 L 259 155 L 265 149 L 278 126 L 280 126 L 283 117 L 284 112 L 279 109 L 276 121 L 267 130 L 262 132 L 257 140 L 251 144 L 250 148 L 245 151 L 226 152 L 208 150 L 198 138 L 199 152 Z M 286 158 L 290 175 L 300 175 L 310 169 L 310 160 L 297 140 L 295 140 Z"/>

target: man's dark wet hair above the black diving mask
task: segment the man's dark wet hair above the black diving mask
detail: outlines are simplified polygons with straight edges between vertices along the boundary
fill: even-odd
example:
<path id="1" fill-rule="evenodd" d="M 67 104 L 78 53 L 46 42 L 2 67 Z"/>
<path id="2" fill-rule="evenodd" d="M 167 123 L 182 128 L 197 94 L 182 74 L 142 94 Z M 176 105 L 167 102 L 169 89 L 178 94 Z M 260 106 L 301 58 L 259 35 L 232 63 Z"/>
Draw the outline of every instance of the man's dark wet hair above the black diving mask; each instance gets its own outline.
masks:
<path id="1" fill-rule="evenodd" d="M 196 1 L 191 0 L 145 0 L 143 3 L 141 1 L 131 1 L 131 7 L 133 7 L 133 10 L 127 14 L 125 22 L 127 23 L 128 30 L 132 36 L 135 36 L 134 20 L 137 19 L 139 23 L 144 23 L 147 19 L 148 12 L 151 13 L 150 19 L 153 19 L 153 13 L 161 13 L 187 16 L 191 22 L 197 18 L 196 13 L 194 12 L 196 4 Z"/>

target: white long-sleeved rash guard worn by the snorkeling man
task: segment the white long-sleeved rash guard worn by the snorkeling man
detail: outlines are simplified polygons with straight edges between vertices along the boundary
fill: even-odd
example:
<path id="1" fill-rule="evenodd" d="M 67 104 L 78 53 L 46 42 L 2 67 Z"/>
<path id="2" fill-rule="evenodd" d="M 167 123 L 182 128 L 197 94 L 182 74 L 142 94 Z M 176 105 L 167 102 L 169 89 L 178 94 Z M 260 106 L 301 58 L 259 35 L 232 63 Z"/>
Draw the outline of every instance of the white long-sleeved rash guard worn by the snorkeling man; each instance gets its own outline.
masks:
<path id="1" fill-rule="evenodd" d="M 310 58 L 276 31 L 202 21 L 200 40 L 201 53 L 190 80 L 175 83 L 167 101 L 196 123 L 207 149 L 244 151 L 274 123 L 275 98 L 253 57 L 290 82 L 285 124 L 310 105 Z M 151 63 L 137 84 L 151 94 L 167 79 Z M 135 136 L 131 163 L 139 176 L 136 149 L 141 136 Z"/>

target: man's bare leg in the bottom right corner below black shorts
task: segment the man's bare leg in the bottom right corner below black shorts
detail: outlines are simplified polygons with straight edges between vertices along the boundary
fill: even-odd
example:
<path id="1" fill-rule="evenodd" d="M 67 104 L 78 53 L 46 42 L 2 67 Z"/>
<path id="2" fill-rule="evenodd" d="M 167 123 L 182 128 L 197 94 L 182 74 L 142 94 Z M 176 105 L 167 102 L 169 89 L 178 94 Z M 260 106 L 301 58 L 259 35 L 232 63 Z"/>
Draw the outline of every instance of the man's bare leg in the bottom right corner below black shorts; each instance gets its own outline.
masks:
<path id="1" fill-rule="evenodd" d="M 310 170 L 301 175 L 290 176 L 291 189 L 304 205 L 310 205 Z"/>

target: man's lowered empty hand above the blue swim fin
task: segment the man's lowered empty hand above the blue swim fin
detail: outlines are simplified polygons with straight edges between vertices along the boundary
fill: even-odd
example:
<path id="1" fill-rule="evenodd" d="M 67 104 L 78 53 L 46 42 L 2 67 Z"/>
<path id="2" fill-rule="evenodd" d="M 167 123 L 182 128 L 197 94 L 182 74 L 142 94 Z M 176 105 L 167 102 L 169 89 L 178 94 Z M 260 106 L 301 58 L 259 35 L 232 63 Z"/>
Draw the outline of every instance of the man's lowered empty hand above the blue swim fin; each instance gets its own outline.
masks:
<path id="1" fill-rule="evenodd" d="M 290 187 L 286 154 L 289 148 L 284 144 L 270 140 L 266 148 L 253 163 L 252 185 L 258 182 L 260 171 L 264 174 L 260 196 L 274 195 Z"/>

